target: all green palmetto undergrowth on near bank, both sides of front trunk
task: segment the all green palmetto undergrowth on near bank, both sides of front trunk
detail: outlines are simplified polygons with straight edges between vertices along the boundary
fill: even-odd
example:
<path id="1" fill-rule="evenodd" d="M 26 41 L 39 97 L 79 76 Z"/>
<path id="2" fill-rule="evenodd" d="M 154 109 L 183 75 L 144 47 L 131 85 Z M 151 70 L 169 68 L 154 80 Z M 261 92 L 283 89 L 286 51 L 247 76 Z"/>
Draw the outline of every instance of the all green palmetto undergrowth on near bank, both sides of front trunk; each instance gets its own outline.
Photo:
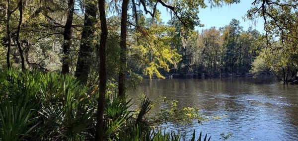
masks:
<path id="1" fill-rule="evenodd" d="M 7 70 L 0 72 L 0 80 L 0 141 L 84 141 L 94 136 L 95 97 L 73 76 Z M 128 110 L 132 104 L 126 98 L 115 92 L 107 99 L 106 139 L 180 141 L 179 133 L 155 132 L 147 125 L 144 119 L 151 108 L 148 97 L 137 118 Z"/>

